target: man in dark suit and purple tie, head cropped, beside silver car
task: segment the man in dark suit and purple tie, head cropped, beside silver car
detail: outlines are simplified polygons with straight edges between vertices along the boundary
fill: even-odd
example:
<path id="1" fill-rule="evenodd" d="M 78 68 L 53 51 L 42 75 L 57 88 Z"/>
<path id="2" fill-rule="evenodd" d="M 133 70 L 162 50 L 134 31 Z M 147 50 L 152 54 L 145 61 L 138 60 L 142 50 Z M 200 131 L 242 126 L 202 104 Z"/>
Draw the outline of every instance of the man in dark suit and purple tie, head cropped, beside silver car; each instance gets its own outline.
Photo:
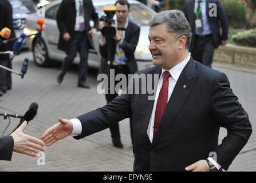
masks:
<path id="1" fill-rule="evenodd" d="M 94 22 L 91 28 L 89 21 Z M 90 0 L 63 0 L 57 13 L 57 25 L 60 30 L 58 49 L 66 52 L 57 82 L 61 83 L 70 64 L 80 54 L 78 87 L 89 88 L 86 83 L 88 73 L 88 50 L 93 48 L 92 35 L 96 34 L 99 26 L 98 14 Z"/>

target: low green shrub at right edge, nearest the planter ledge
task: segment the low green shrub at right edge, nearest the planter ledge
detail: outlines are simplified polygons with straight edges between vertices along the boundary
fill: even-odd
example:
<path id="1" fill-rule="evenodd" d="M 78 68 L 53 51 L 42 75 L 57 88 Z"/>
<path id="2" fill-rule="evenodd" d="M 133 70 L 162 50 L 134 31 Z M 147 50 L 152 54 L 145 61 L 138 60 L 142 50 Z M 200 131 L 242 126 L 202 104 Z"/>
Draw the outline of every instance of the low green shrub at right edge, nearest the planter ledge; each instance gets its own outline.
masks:
<path id="1" fill-rule="evenodd" d="M 239 31 L 232 35 L 231 39 L 237 45 L 256 47 L 256 28 Z"/>

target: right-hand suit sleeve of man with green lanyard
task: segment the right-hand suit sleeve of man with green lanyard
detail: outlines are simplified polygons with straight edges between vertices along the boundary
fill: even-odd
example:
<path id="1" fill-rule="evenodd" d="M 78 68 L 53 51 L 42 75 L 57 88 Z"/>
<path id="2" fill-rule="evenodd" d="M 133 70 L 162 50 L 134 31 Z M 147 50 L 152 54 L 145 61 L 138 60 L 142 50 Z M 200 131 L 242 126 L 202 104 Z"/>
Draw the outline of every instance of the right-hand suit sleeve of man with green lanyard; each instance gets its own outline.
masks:
<path id="1" fill-rule="evenodd" d="M 229 34 L 229 21 L 227 20 L 227 16 L 225 14 L 223 7 L 220 5 L 218 1 L 216 3 L 217 3 L 217 15 L 220 21 L 220 25 L 222 27 L 222 40 L 227 40 L 228 34 Z"/>

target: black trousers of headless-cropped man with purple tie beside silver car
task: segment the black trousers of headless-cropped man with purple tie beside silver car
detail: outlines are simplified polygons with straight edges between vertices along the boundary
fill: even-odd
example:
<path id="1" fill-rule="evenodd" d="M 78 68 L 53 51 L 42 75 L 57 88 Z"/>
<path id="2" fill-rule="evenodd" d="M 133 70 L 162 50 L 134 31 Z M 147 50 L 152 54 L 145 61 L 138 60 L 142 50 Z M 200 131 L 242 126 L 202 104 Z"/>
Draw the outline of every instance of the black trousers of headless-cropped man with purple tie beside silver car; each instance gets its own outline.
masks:
<path id="1" fill-rule="evenodd" d="M 66 73 L 71 63 L 77 55 L 77 51 L 80 55 L 78 83 L 86 81 L 88 74 L 88 38 L 86 32 L 76 31 L 73 35 L 73 41 L 71 49 L 67 54 L 64 62 L 62 62 L 61 71 Z"/>

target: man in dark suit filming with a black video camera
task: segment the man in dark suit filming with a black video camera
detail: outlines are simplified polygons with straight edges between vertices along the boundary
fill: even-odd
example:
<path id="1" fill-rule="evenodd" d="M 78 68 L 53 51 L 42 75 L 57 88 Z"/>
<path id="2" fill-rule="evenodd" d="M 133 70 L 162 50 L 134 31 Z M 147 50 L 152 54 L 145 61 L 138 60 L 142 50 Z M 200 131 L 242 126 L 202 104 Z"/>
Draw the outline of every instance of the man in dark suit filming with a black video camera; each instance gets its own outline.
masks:
<path id="1" fill-rule="evenodd" d="M 115 70 L 115 77 L 117 74 L 122 73 L 127 77 L 127 86 L 128 86 L 128 74 L 135 73 L 137 71 L 137 63 L 135 61 L 134 52 L 139 41 L 140 27 L 135 23 L 131 22 L 128 18 L 129 13 L 131 12 L 130 5 L 127 0 L 118 0 L 115 3 L 116 6 L 116 17 L 115 25 L 112 25 L 116 28 L 116 35 L 112 37 L 113 48 L 111 53 L 108 53 L 108 44 L 106 43 L 106 38 L 103 34 L 100 35 L 100 54 L 101 54 L 101 67 L 100 73 L 108 73 L 109 67 L 107 66 L 108 54 L 111 55 L 111 69 Z M 100 29 L 106 25 L 106 22 L 103 21 L 100 24 Z M 123 27 L 123 30 L 117 30 L 117 27 Z M 109 79 L 110 80 L 110 79 Z M 115 81 L 116 87 L 117 81 Z M 115 92 L 110 94 L 110 85 L 108 85 L 108 93 L 105 94 L 107 103 L 111 102 L 114 98 L 118 96 Z M 114 89 L 115 90 L 115 89 Z M 132 137 L 132 120 L 130 118 L 130 128 L 131 128 L 131 137 Z M 111 126 L 111 137 L 113 145 L 117 148 L 123 148 L 123 144 L 120 140 L 120 131 L 119 124 L 117 123 L 114 126 Z"/>

